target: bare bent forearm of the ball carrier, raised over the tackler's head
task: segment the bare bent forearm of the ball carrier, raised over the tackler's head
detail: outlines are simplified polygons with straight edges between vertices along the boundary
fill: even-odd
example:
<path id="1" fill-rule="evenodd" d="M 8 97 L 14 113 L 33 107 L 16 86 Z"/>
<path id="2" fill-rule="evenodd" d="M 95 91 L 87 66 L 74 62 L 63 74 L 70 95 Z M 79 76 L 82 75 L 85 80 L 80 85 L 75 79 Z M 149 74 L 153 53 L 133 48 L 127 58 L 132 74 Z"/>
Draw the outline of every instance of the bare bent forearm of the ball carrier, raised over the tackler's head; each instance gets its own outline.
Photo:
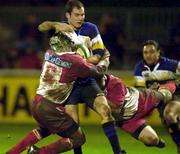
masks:
<path id="1" fill-rule="evenodd" d="M 54 21 L 44 21 L 38 26 L 39 31 L 46 32 L 49 30 L 55 30 L 56 32 L 64 31 L 64 32 L 71 32 L 73 28 L 63 22 L 54 22 Z"/>

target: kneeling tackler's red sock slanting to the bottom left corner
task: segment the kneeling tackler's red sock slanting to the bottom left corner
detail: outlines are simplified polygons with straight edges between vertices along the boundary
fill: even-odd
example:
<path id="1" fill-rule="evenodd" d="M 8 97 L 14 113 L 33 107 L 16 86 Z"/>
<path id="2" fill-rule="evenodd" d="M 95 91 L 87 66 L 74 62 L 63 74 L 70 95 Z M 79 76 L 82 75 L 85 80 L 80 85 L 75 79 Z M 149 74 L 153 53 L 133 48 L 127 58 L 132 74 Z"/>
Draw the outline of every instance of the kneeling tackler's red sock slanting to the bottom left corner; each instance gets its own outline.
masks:
<path id="1" fill-rule="evenodd" d="M 11 148 L 7 154 L 20 154 L 28 146 L 37 143 L 41 139 L 39 132 L 34 129 L 29 132 L 23 139 L 21 139 L 13 148 Z"/>

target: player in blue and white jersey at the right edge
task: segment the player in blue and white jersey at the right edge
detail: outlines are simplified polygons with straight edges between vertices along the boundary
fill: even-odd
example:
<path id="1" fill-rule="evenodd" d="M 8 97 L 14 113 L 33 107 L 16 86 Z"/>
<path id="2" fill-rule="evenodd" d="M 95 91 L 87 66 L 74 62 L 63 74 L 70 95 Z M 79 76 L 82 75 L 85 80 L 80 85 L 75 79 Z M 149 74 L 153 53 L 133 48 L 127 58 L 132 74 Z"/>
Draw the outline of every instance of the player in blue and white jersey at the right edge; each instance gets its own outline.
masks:
<path id="1" fill-rule="evenodd" d="M 148 40 L 143 45 L 143 60 L 141 60 L 134 70 L 136 87 L 153 87 L 167 81 L 178 81 L 180 75 L 180 61 L 168 59 L 160 55 L 158 42 Z M 180 154 L 180 94 L 177 89 L 174 99 L 158 108 L 161 119 L 177 145 Z"/>

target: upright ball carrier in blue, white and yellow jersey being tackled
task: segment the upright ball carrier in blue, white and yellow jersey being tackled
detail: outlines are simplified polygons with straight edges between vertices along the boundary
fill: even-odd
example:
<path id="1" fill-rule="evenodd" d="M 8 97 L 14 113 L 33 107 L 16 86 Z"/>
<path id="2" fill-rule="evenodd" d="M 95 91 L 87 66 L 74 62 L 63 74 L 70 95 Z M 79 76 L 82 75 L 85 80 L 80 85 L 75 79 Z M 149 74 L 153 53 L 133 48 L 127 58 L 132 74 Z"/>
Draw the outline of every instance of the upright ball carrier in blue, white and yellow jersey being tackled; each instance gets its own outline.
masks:
<path id="1" fill-rule="evenodd" d="M 97 67 L 101 69 L 102 71 L 106 72 L 109 66 L 109 52 L 105 50 L 104 48 L 104 44 L 103 44 L 103 41 L 102 41 L 102 38 L 100 36 L 97 26 L 91 22 L 84 21 L 85 8 L 84 8 L 83 3 L 81 3 L 79 0 L 69 0 L 65 6 L 65 16 L 67 18 L 66 22 L 45 21 L 39 25 L 39 30 L 41 32 L 46 32 L 49 30 L 54 30 L 55 32 L 74 30 L 80 40 L 82 41 L 84 40 L 84 42 L 86 42 L 85 40 L 90 41 L 90 43 L 88 43 L 89 44 L 88 47 L 92 51 L 92 54 L 96 55 L 96 59 L 98 60 Z M 99 82 L 101 82 L 100 79 L 99 79 Z M 90 88 L 91 86 L 93 89 L 96 87 L 95 91 L 99 89 L 99 87 L 96 86 L 95 79 L 93 78 L 78 79 L 76 81 L 76 86 L 81 87 L 81 84 L 89 85 L 89 89 L 91 89 Z M 80 94 L 76 93 L 76 95 L 80 95 Z M 105 99 L 106 98 L 104 96 L 99 96 L 98 100 L 96 99 L 96 101 L 93 103 L 93 109 L 97 111 L 98 113 L 100 113 L 100 116 L 102 117 L 102 126 L 104 129 L 104 132 L 111 143 L 114 153 L 118 153 L 117 151 L 119 151 L 120 148 L 118 146 L 119 143 L 118 143 L 117 135 L 115 135 L 116 134 L 116 131 L 114 128 L 115 125 L 113 123 L 111 113 L 109 113 L 108 107 L 105 107 L 106 110 L 108 109 L 107 111 L 105 111 L 101 107 L 102 104 L 106 104 L 106 106 L 108 105 L 107 103 L 102 103 L 102 102 L 105 102 Z M 78 121 L 76 102 L 77 102 L 77 99 L 69 100 L 69 103 L 66 104 L 66 111 L 68 113 L 71 113 L 75 121 Z M 106 114 L 104 114 L 104 111 Z M 111 133 L 108 132 L 109 127 L 111 127 L 111 130 L 112 130 L 111 132 L 114 131 L 113 139 L 111 137 Z M 81 147 L 75 149 L 75 151 L 80 152 Z"/>

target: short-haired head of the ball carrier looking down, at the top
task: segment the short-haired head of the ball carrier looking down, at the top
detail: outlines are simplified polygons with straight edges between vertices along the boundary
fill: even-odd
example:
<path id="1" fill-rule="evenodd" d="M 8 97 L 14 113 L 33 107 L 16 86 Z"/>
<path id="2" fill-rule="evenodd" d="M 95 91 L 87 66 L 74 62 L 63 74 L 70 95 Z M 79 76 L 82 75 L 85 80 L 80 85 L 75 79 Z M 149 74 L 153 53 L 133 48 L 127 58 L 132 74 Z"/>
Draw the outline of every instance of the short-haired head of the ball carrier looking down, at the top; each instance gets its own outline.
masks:
<path id="1" fill-rule="evenodd" d="M 80 28 L 85 19 L 85 9 L 83 3 L 79 0 L 69 0 L 66 3 L 65 10 L 68 23 L 75 29 Z"/>

